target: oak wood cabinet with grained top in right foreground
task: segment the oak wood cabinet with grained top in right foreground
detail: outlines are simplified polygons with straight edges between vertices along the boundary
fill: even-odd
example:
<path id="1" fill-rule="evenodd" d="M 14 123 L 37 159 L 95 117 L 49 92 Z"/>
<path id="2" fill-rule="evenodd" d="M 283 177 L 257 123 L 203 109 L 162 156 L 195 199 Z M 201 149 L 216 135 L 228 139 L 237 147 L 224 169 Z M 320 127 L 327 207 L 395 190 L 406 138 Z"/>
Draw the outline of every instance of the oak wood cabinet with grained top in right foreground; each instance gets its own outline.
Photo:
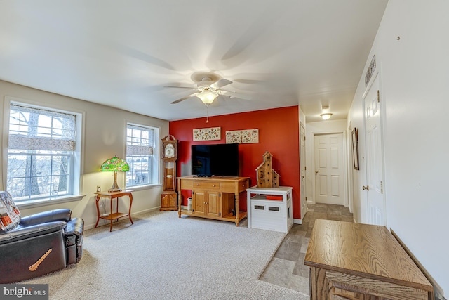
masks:
<path id="1" fill-rule="evenodd" d="M 434 287 L 384 226 L 317 219 L 304 264 L 311 300 L 434 299 Z"/>

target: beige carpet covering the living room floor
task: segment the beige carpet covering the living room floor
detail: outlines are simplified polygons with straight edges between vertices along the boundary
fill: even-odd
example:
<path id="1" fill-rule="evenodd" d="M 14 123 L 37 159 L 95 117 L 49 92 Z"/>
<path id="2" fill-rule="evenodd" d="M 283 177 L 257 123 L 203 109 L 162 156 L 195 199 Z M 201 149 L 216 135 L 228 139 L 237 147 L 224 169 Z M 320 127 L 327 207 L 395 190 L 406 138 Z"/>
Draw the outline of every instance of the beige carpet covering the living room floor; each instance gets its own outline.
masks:
<path id="1" fill-rule="evenodd" d="M 86 230 L 83 258 L 41 278 L 50 299 L 309 299 L 258 280 L 285 236 L 155 212 Z"/>

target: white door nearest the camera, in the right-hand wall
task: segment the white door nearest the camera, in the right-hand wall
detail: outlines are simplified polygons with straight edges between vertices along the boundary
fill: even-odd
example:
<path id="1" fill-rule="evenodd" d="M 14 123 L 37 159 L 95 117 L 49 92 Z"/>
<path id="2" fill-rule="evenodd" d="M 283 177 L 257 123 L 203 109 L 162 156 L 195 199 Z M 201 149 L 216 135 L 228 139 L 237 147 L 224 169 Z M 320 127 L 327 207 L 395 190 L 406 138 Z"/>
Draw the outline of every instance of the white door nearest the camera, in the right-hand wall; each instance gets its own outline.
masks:
<path id="1" fill-rule="evenodd" d="M 367 193 L 368 223 L 374 225 L 386 225 L 380 104 L 379 76 L 376 76 L 363 99 L 366 139 L 366 185 L 363 189 Z"/>

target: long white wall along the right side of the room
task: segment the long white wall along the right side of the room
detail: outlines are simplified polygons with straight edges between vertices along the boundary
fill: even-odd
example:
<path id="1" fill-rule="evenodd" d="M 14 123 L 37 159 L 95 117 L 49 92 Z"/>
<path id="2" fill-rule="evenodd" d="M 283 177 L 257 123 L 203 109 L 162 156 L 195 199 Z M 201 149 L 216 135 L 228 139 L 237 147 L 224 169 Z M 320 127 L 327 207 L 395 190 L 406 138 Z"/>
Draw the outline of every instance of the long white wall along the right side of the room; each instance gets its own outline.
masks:
<path id="1" fill-rule="evenodd" d="M 449 292 L 449 1 L 389 0 L 372 51 L 384 109 L 387 226 Z M 399 37 L 399 38 L 398 38 Z M 348 122 L 362 128 L 361 74 Z M 359 131 L 361 156 L 364 136 Z M 365 181 L 363 160 L 354 190 Z M 354 195 L 366 221 L 363 195 Z M 354 203 L 355 204 L 355 203 Z"/>

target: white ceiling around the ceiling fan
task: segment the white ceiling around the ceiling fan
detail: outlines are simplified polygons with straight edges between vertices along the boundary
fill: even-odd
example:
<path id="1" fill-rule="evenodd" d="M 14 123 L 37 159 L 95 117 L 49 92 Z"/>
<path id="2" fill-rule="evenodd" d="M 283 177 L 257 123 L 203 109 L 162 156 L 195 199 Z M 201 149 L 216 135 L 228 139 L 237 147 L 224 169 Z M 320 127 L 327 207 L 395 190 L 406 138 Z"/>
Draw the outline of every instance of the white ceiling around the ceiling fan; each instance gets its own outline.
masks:
<path id="1" fill-rule="evenodd" d="M 387 0 L 2 0 L 0 79 L 167 120 L 206 116 L 194 72 L 233 81 L 209 115 L 322 105 L 344 119 Z"/>

